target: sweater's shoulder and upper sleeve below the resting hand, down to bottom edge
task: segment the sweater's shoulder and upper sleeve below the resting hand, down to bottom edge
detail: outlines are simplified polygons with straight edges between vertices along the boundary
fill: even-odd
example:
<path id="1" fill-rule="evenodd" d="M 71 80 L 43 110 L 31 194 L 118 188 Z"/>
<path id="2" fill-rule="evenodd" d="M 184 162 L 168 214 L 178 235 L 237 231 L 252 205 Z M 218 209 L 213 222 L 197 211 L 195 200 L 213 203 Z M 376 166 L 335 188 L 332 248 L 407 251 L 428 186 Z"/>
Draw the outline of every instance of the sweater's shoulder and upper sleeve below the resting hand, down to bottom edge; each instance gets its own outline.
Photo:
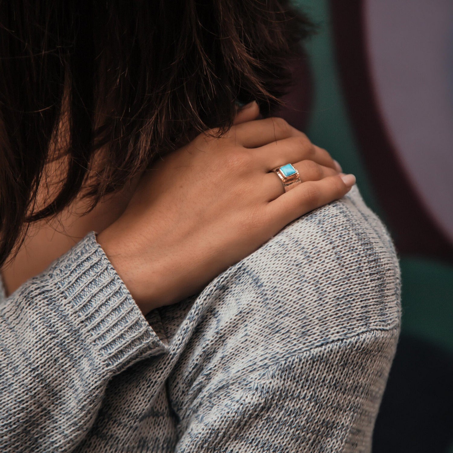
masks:
<path id="1" fill-rule="evenodd" d="M 169 377 L 175 452 L 371 451 L 400 332 L 400 268 L 356 186 L 205 294 Z"/>

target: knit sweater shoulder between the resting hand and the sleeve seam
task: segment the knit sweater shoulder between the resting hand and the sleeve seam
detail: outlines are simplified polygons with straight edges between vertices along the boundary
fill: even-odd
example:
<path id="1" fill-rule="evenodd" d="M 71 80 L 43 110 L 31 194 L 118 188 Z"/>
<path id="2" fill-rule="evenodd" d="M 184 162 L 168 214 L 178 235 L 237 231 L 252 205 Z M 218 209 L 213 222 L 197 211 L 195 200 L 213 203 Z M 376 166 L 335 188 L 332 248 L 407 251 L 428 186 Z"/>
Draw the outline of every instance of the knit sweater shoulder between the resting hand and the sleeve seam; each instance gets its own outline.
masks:
<path id="1" fill-rule="evenodd" d="M 198 345 L 200 363 L 209 352 L 220 369 L 237 361 L 256 369 L 334 342 L 395 338 L 400 268 L 386 227 L 354 186 L 160 313 L 174 348 Z"/>

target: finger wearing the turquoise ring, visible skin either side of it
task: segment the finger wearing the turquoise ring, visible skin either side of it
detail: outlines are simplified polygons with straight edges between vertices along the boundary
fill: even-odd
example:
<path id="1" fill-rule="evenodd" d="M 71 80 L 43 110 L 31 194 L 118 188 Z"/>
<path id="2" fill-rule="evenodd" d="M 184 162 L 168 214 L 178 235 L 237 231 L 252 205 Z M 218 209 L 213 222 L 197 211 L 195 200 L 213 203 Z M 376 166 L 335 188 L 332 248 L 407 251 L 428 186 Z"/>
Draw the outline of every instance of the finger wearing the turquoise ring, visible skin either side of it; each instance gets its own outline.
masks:
<path id="1" fill-rule="evenodd" d="M 302 182 L 318 181 L 326 176 L 338 174 L 337 170 L 317 164 L 316 162 L 313 162 L 313 160 L 301 160 L 293 164 L 293 166 L 299 172 L 299 177 Z M 282 180 L 273 171 L 265 174 L 264 187 L 266 201 L 275 200 L 275 198 L 280 197 L 280 195 L 285 193 Z"/>

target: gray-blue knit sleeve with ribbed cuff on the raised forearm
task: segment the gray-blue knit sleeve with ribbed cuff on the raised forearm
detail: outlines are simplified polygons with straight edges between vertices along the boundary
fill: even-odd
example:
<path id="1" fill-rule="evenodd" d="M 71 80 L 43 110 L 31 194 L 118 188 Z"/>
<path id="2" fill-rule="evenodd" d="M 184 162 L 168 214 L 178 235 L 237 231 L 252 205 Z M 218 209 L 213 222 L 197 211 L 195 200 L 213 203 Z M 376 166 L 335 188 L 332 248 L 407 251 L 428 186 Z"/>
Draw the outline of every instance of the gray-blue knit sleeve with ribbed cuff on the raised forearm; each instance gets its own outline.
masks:
<path id="1" fill-rule="evenodd" d="M 0 303 L 0 451 L 72 451 L 111 377 L 167 350 L 90 232 Z"/>

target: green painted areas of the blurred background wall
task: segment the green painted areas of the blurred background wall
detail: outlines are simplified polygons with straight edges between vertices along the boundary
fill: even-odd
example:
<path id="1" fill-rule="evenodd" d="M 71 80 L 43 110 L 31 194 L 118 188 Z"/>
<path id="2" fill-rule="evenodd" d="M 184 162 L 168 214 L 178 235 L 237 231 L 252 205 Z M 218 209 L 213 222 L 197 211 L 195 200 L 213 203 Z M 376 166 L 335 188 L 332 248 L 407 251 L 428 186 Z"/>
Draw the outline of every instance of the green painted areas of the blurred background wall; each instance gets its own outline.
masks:
<path id="1" fill-rule="evenodd" d="M 348 117 L 337 72 L 329 2 L 296 0 L 318 33 L 304 43 L 314 84 L 314 105 L 304 132 L 316 145 L 327 149 L 345 173 L 357 177 L 357 185 L 371 209 L 384 222 Z M 391 232 L 391 230 L 390 230 Z M 423 256 L 400 255 L 402 274 L 402 332 L 412 334 L 453 354 L 453 266 Z M 453 391 L 453 382 L 452 382 Z M 452 427 L 453 429 L 453 427 Z M 448 450 L 453 453 L 453 445 Z"/>

